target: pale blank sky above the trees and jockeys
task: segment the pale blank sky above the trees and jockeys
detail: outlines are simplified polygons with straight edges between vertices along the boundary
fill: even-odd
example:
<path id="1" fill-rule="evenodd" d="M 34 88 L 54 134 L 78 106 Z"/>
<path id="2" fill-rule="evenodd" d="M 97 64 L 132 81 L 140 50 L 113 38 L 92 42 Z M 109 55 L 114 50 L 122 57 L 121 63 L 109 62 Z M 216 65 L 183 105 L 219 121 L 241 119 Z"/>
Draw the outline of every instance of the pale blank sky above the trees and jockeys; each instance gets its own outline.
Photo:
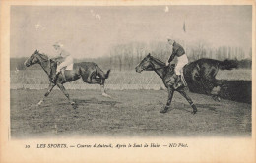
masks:
<path id="1" fill-rule="evenodd" d="M 186 32 L 183 30 L 185 22 Z M 252 46 L 251 6 L 12 6 L 11 57 L 38 49 L 56 55 L 61 42 L 75 58 L 109 55 L 117 44 L 166 41 L 210 47 Z M 166 41 L 167 43 L 167 41 Z"/>

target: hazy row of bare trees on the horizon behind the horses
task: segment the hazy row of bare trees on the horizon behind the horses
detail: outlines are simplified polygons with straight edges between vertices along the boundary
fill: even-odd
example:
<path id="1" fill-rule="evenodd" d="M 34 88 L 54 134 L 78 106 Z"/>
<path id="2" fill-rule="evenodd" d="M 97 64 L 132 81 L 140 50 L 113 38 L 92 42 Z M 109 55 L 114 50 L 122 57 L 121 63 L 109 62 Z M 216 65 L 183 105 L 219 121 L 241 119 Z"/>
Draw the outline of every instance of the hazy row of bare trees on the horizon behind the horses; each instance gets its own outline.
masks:
<path id="1" fill-rule="evenodd" d="M 217 60 L 237 59 L 240 61 L 241 68 L 251 68 L 251 59 L 245 58 L 245 52 L 240 47 L 222 46 L 219 48 L 210 48 L 203 43 L 196 46 L 184 46 L 189 61 L 194 61 L 200 58 L 212 58 Z M 119 44 L 113 46 L 108 56 L 103 56 L 96 59 L 76 59 L 76 62 L 92 61 L 96 62 L 102 69 L 112 69 L 118 71 L 133 70 L 138 63 L 151 53 L 153 56 L 165 62 L 171 54 L 171 47 L 166 42 L 131 42 L 129 44 Z M 250 49 L 247 56 L 252 55 Z M 25 69 L 24 61 L 26 58 L 11 59 L 11 70 Z M 34 66 L 32 69 L 40 69 Z"/>

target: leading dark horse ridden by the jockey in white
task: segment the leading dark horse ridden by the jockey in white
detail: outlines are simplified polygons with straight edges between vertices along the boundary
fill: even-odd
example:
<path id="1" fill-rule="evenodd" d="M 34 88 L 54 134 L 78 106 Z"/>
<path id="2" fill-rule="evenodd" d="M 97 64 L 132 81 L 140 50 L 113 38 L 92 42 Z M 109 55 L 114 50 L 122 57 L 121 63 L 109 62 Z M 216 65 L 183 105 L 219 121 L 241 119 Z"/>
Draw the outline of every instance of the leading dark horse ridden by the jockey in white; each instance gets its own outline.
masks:
<path id="1" fill-rule="evenodd" d="M 110 97 L 108 94 L 105 93 L 104 89 L 104 82 L 105 79 L 108 78 L 110 70 L 108 70 L 106 73 L 104 73 L 97 65 L 93 62 L 81 62 L 81 63 L 74 63 L 73 70 L 65 70 L 65 78 L 63 77 L 63 74 L 59 74 L 56 81 L 52 81 L 52 76 L 56 72 L 57 63 L 55 60 L 48 59 L 48 56 L 45 54 L 39 53 L 39 51 L 35 50 L 35 52 L 32 54 L 30 58 L 28 58 L 25 63 L 27 67 L 32 66 L 33 64 L 39 64 L 41 68 L 44 70 L 44 72 L 48 75 L 50 84 L 48 87 L 47 92 L 44 94 L 44 97 L 38 102 L 37 105 L 40 105 L 44 98 L 49 95 L 52 88 L 57 85 L 60 90 L 65 94 L 65 96 L 68 98 L 69 102 L 72 104 L 74 108 L 76 108 L 75 102 L 73 102 L 69 98 L 69 94 L 66 91 L 63 84 L 65 82 L 71 82 L 76 81 L 80 78 L 84 82 L 90 83 L 90 84 L 100 84 L 101 85 L 101 92 L 103 96 Z"/>

